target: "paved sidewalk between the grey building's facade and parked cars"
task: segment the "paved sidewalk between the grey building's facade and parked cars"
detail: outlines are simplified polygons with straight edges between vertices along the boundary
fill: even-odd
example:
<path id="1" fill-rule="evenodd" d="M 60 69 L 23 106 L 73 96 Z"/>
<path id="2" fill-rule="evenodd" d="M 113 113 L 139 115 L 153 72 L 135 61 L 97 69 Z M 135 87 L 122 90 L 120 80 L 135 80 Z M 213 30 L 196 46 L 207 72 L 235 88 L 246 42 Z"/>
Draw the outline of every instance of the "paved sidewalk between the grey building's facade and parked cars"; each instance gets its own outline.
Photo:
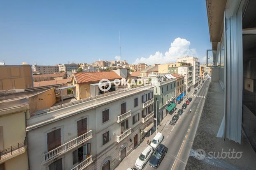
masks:
<path id="1" fill-rule="evenodd" d="M 186 96 L 189 98 L 193 94 L 193 92 L 189 92 Z M 184 99 L 186 101 L 186 97 Z M 172 113 L 172 115 L 168 114 L 166 117 L 162 120 L 162 122 L 158 122 L 157 131 L 161 132 L 163 128 L 165 127 L 165 124 L 168 124 L 169 121 L 172 119 L 172 117 L 177 114 L 177 111 L 182 108 L 183 101 L 176 106 L 175 113 Z M 156 135 L 156 131 L 154 131 L 151 136 L 146 136 L 144 140 L 137 146 L 136 149 L 134 149 L 128 156 L 126 156 L 123 161 L 115 168 L 115 170 L 126 170 L 127 168 L 133 168 L 135 167 L 135 161 L 140 156 L 140 154 L 143 152 L 143 150 L 148 146 L 147 142 L 151 142 Z"/>

